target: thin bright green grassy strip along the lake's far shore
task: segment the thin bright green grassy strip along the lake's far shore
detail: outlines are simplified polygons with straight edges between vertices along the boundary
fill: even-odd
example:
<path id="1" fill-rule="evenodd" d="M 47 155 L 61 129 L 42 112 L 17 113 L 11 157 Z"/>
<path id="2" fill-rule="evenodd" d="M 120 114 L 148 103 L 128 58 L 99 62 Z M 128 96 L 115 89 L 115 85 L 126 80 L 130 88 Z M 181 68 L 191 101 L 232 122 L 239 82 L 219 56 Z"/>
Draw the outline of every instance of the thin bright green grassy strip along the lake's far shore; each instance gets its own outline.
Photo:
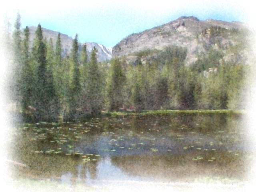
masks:
<path id="1" fill-rule="evenodd" d="M 140 116 L 140 115 L 167 115 L 167 114 L 245 114 L 245 110 L 145 110 L 141 112 L 106 112 L 105 115 L 110 116 Z"/>

